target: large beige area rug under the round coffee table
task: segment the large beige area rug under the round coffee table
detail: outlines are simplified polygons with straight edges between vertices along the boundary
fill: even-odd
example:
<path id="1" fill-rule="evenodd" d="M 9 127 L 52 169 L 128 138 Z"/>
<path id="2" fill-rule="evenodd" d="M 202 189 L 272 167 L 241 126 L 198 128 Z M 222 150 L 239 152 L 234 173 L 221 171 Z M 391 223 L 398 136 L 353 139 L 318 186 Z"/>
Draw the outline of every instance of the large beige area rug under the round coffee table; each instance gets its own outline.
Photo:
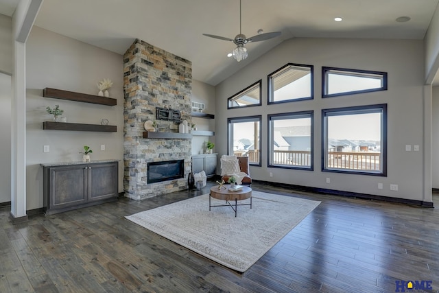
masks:
<path id="1" fill-rule="evenodd" d="M 320 202 L 252 191 L 250 206 L 212 207 L 209 194 L 126 216 L 195 253 L 245 272 Z M 250 203 L 241 200 L 238 203 Z M 212 198 L 212 204 L 225 204 Z"/>

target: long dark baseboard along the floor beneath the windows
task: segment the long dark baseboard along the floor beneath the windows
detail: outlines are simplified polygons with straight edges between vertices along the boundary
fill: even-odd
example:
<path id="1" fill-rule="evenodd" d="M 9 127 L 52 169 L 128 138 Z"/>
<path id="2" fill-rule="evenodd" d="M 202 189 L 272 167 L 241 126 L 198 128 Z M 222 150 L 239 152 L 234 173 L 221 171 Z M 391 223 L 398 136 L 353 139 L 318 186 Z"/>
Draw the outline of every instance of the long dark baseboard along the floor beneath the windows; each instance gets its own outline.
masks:
<path id="1" fill-rule="evenodd" d="M 366 200 L 381 200 L 381 201 L 385 201 L 385 202 L 396 202 L 396 203 L 401 203 L 401 204 L 410 204 L 410 205 L 415 205 L 418 207 L 434 208 L 433 202 L 424 202 L 423 200 L 409 200 L 406 198 L 392 198 L 390 196 L 376 196 L 375 194 L 359 194 L 357 192 L 351 192 L 351 191 L 340 191 L 340 190 L 334 190 L 334 189 L 309 187 L 309 186 L 302 186 L 302 185 L 293 185 L 293 184 L 286 184 L 286 183 L 274 183 L 274 182 L 263 181 L 263 180 L 253 180 L 253 182 L 263 184 L 263 185 L 274 186 L 274 187 L 286 187 L 289 189 L 296 189 L 298 191 L 313 192 L 316 194 L 331 194 L 333 196 L 362 198 L 362 199 L 366 199 Z"/>

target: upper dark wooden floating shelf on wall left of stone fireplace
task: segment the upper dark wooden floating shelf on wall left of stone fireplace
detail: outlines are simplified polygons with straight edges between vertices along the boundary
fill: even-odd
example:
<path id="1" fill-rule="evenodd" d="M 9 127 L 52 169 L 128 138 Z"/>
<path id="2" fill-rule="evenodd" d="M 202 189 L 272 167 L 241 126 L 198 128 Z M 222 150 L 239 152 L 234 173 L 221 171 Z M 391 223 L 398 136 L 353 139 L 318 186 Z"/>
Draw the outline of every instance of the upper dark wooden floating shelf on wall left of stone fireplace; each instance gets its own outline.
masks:
<path id="1" fill-rule="evenodd" d="M 54 99 L 68 99 L 69 101 L 100 104 L 106 106 L 117 105 L 117 99 L 113 99 L 112 97 L 101 97 L 100 95 L 75 93 L 73 91 L 64 91 L 61 89 L 45 88 L 43 89 L 43 97 L 51 97 Z"/>

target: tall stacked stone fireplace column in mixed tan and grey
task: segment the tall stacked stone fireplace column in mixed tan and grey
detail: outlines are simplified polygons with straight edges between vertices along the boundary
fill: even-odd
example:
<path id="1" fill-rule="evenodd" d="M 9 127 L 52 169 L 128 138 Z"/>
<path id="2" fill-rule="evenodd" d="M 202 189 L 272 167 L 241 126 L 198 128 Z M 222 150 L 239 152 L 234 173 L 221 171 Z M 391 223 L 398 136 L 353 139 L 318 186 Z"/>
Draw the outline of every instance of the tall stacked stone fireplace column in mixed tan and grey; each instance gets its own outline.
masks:
<path id="1" fill-rule="evenodd" d="M 191 169 L 191 139 L 143 139 L 147 120 L 156 118 L 156 107 L 180 110 L 191 123 L 191 62 L 135 40 L 123 56 L 123 117 L 125 196 L 143 200 L 187 189 Z M 178 123 L 157 120 L 161 131 L 178 132 Z M 185 160 L 185 178 L 147 184 L 147 162 Z"/>

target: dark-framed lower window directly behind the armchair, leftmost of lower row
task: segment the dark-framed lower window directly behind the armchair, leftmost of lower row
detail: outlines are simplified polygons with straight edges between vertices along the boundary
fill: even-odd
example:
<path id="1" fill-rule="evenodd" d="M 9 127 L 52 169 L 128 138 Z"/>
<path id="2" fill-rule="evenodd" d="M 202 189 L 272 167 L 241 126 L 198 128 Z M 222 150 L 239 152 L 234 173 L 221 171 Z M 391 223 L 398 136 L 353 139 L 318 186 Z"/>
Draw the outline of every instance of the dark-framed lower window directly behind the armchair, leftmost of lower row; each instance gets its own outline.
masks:
<path id="1" fill-rule="evenodd" d="M 251 165 L 261 165 L 261 116 L 228 119 L 228 154 L 248 156 Z"/>

